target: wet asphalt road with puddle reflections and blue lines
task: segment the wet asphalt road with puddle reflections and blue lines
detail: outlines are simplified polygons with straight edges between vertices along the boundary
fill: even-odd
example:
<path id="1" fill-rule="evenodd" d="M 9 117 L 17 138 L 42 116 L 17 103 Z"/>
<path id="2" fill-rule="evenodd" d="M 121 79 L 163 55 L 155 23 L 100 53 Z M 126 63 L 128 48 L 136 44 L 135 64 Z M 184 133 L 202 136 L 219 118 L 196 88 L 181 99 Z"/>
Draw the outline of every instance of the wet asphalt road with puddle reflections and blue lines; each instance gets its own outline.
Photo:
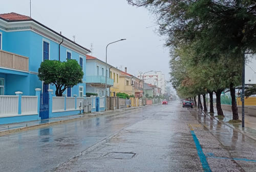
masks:
<path id="1" fill-rule="evenodd" d="M 256 171 L 256 142 L 178 101 L 0 137 L 0 171 L 46 170 Z"/>

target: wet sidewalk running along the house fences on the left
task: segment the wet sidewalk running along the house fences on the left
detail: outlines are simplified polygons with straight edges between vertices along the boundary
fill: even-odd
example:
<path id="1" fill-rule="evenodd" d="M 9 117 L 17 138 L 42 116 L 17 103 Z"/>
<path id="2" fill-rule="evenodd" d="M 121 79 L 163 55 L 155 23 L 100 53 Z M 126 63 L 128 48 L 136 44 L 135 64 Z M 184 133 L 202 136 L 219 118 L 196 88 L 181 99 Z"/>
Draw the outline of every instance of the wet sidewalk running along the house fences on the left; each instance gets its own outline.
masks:
<path id="1" fill-rule="evenodd" d="M 125 107 L 123 109 L 117 109 L 117 110 L 109 110 L 109 111 L 101 111 L 101 112 L 93 112 L 90 114 L 79 114 L 79 115 L 70 115 L 70 116 L 63 116 L 58 118 L 50 118 L 50 119 L 43 119 L 43 120 L 36 120 L 36 121 L 27 121 L 27 122 L 19 122 L 19 123 L 10 123 L 10 124 L 2 124 L 0 125 L 0 136 L 19 132 L 19 131 L 25 131 L 25 130 L 31 130 L 32 128 L 36 127 L 42 127 L 57 123 L 63 123 L 63 122 L 70 122 L 72 120 L 79 120 L 81 118 L 90 118 L 94 116 L 99 115 L 107 115 L 107 114 L 120 114 L 127 110 L 134 110 L 141 107 L 147 107 L 152 105 L 158 105 L 158 104 L 151 104 L 151 105 L 145 105 L 145 106 L 136 106 L 136 107 Z"/>

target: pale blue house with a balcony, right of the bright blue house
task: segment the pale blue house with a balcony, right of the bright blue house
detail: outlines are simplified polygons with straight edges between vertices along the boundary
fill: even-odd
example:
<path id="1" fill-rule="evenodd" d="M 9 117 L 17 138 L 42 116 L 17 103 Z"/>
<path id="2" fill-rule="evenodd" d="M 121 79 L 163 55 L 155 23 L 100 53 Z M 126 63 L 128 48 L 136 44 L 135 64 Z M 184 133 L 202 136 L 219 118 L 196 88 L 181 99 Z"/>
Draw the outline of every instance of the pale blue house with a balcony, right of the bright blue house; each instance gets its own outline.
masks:
<path id="1" fill-rule="evenodd" d="M 107 84 L 107 94 L 110 96 L 110 87 L 114 80 L 109 76 L 110 65 L 100 59 L 87 55 L 86 57 L 86 88 L 88 93 L 97 93 L 98 96 L 105 96 L 105 82 Z M 106 76 L 106 78 L 105 78 Z M 106 79 L 106 81 L 105 81 Z"/>

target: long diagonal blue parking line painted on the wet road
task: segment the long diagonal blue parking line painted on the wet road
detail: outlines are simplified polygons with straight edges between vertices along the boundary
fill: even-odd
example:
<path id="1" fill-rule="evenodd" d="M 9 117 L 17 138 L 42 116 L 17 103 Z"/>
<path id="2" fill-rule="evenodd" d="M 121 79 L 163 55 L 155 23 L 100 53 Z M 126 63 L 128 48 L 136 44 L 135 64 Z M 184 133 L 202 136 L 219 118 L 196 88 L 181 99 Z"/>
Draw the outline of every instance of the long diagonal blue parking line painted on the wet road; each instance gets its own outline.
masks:
<path id="1" fill-rule="evenodd" d="M 198 139 L 197 139 L 197 136 L 196 136 L 195 132 L 191 130 L 190 133 L 191 133 L 191 135 L 192 135 L 192 137 L 193 137 L 193 139 L 194 139 L 194 142 L 195 142 L 195 144 L 196 144 L 196 147 L 197 147 L 197 154 L 198 154 L 198 156 L 199 156 L 199 158 L 200 158 L 200 161 L 201 161 L 203 170 L 204 170 L 204 171 L 207 171 L 207 172 L 211 171 L 211 170 L 210 170 L 210 167 L 209 167 L 209 164 L 208 164 L 208 162 L 207 162 L 207 160 L 206 160 L 206 156 L 205 156 L 204 153 L 203 153 L 203 150 L 202 150 L 202 148 L 201 148 L 201 146 L 200 146 L 200 143 L 199 143 L 199 141 L 198 141 Z"/>

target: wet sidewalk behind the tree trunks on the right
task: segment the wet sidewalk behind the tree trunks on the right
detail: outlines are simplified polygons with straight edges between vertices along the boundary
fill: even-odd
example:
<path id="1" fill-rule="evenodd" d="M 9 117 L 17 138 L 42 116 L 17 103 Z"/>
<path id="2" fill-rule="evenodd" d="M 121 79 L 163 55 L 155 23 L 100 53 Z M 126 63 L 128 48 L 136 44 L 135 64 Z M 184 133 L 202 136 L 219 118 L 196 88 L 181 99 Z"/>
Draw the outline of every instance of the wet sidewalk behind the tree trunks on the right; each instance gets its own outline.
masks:
<path id="1" fill-rule="evenodd" d="M 231 111 L 222 110 L 225 117 L 223 119 L 218 119 L 218 117 L 216 117 L 218 115 L 216 107 L 214 107 L 214 112 L 215 112 L 214 116 L 209 114 L 209 109 L 210 109 L 210 107 L 208 106 L 208 114 L 207 114 L 208 116 L 211 116 L 211 117 L 215 118 L 216 120 L 218 120 L 220 122 L 224 122 L 226 125 L 234 128 L 238 132 L 243 133 L 246 136 L 256 140 L 256 117 L 245 115 L 244 116 L 244 125 L 245 125 L 245 127 L 242 129 L 242 122 L 240 122 L 240 123 L 228 123 L 228 121 L 232 119 L 232 112 Z M 242 120 L 242 114 L 241 113 L 239 113 L 239 119 Z"/>

